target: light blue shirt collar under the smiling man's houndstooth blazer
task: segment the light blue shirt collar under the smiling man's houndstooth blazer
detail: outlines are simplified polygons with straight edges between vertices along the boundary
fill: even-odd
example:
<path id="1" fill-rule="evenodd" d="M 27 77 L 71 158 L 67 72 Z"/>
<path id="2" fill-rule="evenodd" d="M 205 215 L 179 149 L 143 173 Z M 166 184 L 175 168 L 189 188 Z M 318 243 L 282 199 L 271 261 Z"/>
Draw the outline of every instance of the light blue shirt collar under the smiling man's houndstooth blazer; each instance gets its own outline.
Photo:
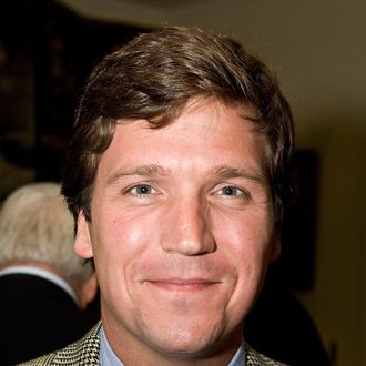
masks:
<path id="1" fill-rule="evenodd" d="M 101 345 L 100 345 L 100 363 L 102 366 L 124 366 L 124 364 L 116 357 L 111 348 L 104 329 L 101 327 Z M 245 366 L 245 348 L 244 342 L 241 344 L 236 354 L 227 366 Z"/>

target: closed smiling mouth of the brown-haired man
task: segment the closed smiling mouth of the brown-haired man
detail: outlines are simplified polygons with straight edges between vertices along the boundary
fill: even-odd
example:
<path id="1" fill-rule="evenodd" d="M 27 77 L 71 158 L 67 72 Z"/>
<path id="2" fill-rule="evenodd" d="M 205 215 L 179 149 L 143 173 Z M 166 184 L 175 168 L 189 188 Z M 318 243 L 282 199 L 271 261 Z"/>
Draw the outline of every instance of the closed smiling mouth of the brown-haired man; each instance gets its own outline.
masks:
<path id="1" fill-rule="evenodd" d="M 183 292 L 183 293 L 211 289 L 214 286 L 218 285 L 220 283 L 204 278 L 190 278 L 190 279 L 169 278 L 169 279 L 152 279 L 145 282 L 160 289 L 165 289 L 170 292 Z"/>

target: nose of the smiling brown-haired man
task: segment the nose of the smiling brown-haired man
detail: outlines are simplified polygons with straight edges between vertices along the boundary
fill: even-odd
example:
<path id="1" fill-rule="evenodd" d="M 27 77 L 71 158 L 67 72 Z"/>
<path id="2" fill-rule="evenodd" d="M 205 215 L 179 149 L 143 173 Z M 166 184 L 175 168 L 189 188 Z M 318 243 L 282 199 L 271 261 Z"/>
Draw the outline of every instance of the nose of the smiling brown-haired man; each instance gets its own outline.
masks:
<path id="1" fill-rule="evenodd" d="M 165 252 L 192 256 L 216 248 L 211 232 L 210 210 L 200 197 L 176 200 L 169 205 L 164 216 L 161 246 Z"/>

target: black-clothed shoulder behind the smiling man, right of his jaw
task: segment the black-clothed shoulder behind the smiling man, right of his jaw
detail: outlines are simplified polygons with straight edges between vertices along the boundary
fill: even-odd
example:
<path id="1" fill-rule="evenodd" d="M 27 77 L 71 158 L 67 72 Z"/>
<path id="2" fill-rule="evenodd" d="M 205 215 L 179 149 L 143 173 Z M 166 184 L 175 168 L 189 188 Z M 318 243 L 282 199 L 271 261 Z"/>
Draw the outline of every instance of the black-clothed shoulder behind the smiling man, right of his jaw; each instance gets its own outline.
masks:
<path id="1" fill-rule="evenodd" d="M 266 281 L 245 319 L 244 338 L 258 352 L 292 366 L 331 366 L 306 309 L 288 289 L 272 279 Z"/>

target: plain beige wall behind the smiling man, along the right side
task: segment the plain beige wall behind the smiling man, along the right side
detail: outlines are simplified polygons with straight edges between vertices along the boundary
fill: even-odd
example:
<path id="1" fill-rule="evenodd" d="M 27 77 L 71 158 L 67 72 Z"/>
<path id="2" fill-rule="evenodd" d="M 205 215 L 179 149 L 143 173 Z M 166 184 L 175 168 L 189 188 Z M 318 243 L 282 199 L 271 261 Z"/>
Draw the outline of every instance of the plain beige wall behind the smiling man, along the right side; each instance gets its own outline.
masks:
<path id="1" fill-rule="evenodd" d="M 293 105 L 297 145 L 316 149 L 322 164 L 316 283 L 297 295 L 325 345 L 337 346 L 337 365 L 366 365 L 366 1 L 139 3 L 78 0 L 78 9 L 135 24 L 222 31 L 276 70 Z"/>

